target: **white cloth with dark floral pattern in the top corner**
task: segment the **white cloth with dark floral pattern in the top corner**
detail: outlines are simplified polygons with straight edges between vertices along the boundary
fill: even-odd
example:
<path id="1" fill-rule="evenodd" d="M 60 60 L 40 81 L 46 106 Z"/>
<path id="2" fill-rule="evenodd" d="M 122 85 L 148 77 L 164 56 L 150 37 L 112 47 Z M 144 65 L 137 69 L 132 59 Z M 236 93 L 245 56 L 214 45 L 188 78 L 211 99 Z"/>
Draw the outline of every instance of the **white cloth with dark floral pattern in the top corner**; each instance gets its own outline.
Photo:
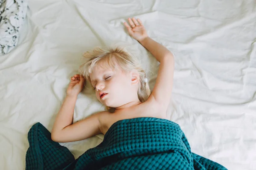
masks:
<path id="1" fill-rule="evenodd" d="M 18 42 L 28 0 L 0 0 L 0 54 L 9 53 Z"/>

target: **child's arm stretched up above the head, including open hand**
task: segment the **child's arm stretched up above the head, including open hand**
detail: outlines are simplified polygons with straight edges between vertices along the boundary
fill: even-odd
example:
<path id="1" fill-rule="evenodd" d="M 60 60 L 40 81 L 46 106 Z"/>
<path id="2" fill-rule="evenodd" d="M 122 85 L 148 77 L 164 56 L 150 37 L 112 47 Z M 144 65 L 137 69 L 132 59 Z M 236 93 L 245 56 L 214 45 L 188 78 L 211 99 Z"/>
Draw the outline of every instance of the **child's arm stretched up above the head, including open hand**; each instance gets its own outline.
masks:
<path id="1" fill-rule="evenodd" d="M 135 18 L 132 18 L 132 20 L 128 18 L 128 21 L 131 27 L 127 23 L 125 23 L 125 26 L 128 29 L 129 34 L 147 48 L 160 62 L 156 84 L 150 98 L 154 98 L 163 109 L 167 109 L 172 94 L 174 57 L 163 45 L 160 45 L 148 37 L 145 27 L 140 19 L 138 19 L 140 24 Z"/>

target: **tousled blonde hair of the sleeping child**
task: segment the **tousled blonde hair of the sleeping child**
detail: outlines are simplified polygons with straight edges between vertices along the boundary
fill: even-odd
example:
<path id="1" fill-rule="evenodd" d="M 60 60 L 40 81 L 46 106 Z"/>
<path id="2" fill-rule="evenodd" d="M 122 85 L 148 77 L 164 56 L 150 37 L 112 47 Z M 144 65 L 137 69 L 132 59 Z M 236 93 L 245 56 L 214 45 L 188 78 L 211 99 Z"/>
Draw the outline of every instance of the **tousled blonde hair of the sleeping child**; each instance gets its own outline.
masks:
<path id="1" fill-rule="evenodd" d="M 84 58 L 87 61 L 79 68 L 81 76 L 85 77 L 90 82 L 89 74 L 95 69 L 99 62 L 106 63 L 107 67 L 115 68 L 113 59 L 120 65 L 123 71 L 137 71 L 140 75 L 140 86 L 138 89 L 138 98 L 140 102 L 145 102 L 150 95 L 150 88 L 146 78 L 146 73 L 140 65 L 137 57 L 130 54 L 122 47 L 115 48 L 94 48 L 92 51 L 84 53 Z M 145 81 L 146 80 L 146 81 Z M 109 110 L 109 108 L 107 108 Z"/>

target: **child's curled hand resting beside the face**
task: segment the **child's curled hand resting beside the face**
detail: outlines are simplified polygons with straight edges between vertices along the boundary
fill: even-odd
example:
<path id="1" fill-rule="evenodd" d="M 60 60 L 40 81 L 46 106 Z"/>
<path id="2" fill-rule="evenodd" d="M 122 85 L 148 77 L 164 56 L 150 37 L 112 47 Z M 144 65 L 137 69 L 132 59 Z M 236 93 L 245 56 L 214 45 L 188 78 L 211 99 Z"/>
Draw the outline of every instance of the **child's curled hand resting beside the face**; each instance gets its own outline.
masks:
<path id="1" fill-rule="evenodd" d="M 79 74 L 71 77 L 71 82 L 67 88 L 67 96 L 77 96 L 84 88 L 84 78 Z"/>

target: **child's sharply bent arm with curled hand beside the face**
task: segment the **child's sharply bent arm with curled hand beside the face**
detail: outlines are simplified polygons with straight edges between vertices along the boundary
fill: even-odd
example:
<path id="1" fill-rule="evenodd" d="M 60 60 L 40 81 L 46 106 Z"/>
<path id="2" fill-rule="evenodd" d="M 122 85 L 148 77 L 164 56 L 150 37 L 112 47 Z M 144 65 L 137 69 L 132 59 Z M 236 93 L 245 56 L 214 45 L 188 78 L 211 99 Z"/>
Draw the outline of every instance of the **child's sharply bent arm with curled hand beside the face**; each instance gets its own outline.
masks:
<path id="1" fill-rule="evenodd" d="M 101 133 L 99 113 L 72 124 L 76 99 L 84 87 L 84 79 L 76 74 L 71 78 L 67 96 L 61 106 L 52 127 L 52 140 L 55 142 L 73 142 L 87 139 Z"/>

